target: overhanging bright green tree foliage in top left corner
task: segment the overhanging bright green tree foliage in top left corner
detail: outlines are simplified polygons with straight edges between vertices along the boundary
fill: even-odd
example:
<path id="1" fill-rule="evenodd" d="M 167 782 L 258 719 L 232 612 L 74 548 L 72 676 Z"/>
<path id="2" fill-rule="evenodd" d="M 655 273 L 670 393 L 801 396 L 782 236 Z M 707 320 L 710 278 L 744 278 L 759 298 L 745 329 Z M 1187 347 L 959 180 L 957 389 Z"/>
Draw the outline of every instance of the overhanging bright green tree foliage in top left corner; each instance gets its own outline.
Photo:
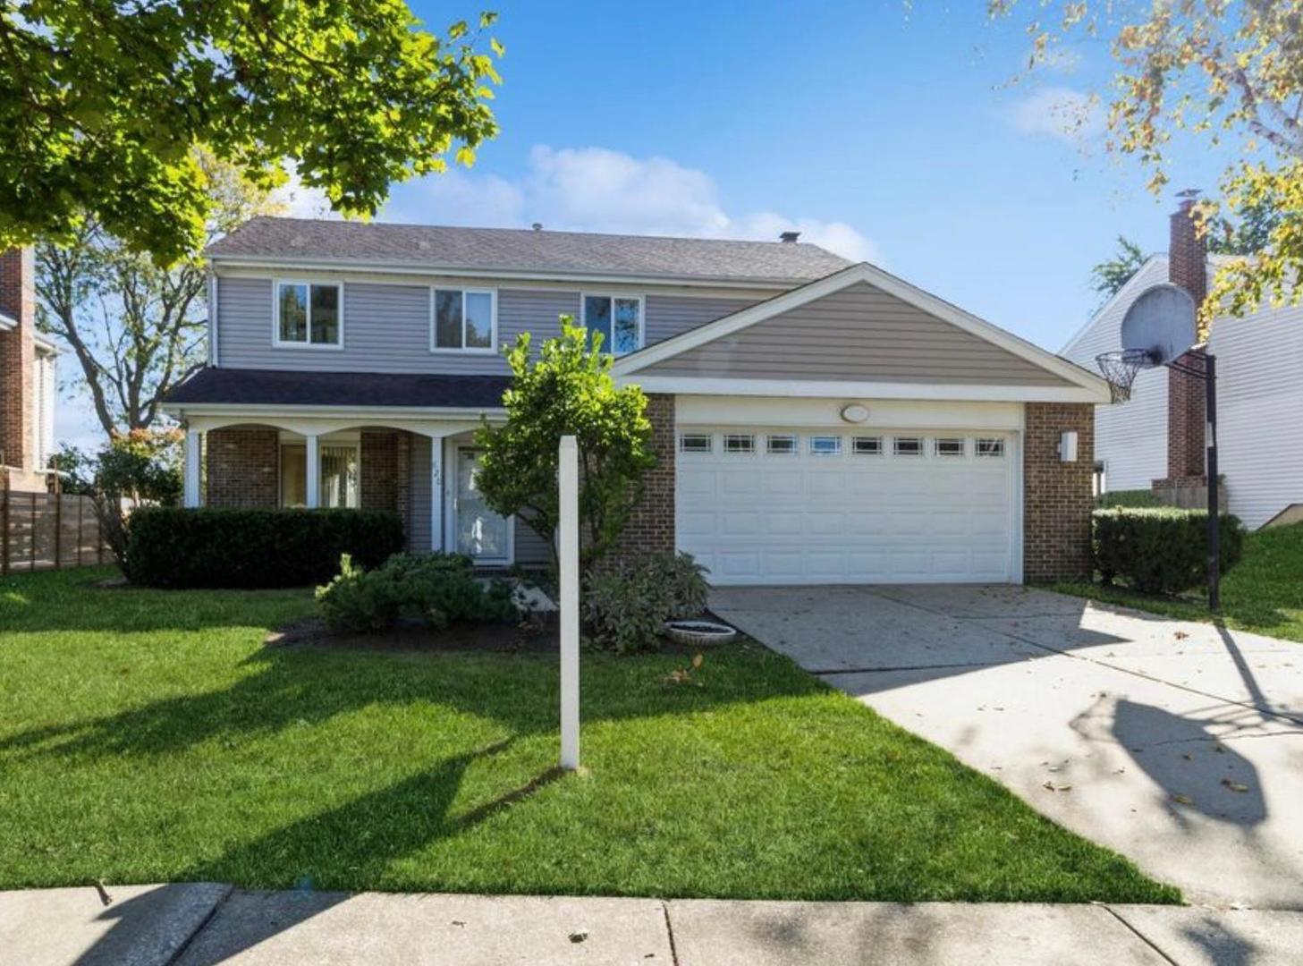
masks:
<path id="1" fill-rule="evenodd" d="M 195 149 L 370 215 L 496 133 L 502 47 L 403 0 L 0 0 L 0 250 L 87 226 L 162 263 L 212 211 Z"/>

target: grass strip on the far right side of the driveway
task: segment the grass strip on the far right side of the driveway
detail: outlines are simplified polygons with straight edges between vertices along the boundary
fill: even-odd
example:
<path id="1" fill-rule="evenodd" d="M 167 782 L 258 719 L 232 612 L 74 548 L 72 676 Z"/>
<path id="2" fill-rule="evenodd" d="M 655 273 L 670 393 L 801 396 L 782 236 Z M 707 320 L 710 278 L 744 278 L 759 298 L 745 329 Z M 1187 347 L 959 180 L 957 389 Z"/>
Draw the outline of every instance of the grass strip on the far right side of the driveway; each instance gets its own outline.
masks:
<path id="1" fill-rule="evenodd" d="M 1166 600 L 1098 584 L 1054 584 L 1050 589 L 1184 621 L 1213 621 L 1204 591 Z M 1221 597 L 1226 627 L 1303 641 L 1303 523 L 1250 533 L 1244 558 L 1222 578 Z"/>

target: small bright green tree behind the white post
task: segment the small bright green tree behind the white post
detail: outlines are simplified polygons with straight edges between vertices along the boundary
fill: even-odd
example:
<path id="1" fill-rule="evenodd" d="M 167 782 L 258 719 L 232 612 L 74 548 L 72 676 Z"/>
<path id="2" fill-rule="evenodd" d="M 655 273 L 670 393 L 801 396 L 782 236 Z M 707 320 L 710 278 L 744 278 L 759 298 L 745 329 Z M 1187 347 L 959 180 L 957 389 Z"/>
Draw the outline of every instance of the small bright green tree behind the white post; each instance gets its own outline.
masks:
<path id="1" fill-rule="evenodd" d="M 511 388 L 503 395 L 507 422 L 478 433 L 483 448 L 478 486 L 504 516 L 516 514 L 552 548 L 559 523 L 556 450 L 563 435 L 579 443 L 580 563 L 590 567 L 619 538 L 642 495 L 642 476 L 655 465 L 646 396 L 637 386 L 616 388 L 602 338 L 562 315 L 562 334 L 530 357 L 523 332 L 507 352 Z"/>

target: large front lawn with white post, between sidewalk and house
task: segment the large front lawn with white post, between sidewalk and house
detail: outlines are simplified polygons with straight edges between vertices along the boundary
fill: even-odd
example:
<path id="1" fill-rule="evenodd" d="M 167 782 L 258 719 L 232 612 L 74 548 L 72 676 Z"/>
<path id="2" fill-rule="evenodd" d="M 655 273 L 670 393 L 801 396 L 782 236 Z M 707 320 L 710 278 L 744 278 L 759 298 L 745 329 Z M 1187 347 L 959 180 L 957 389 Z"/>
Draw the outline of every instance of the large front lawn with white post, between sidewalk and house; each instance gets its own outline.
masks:
<path id="1" fill-rule="evenodd" d="M 306 592 L 0 583 L 0 888 L 1171 902 L 1130 862 L 754 644 L 585 656 L 265 649 Z"/>

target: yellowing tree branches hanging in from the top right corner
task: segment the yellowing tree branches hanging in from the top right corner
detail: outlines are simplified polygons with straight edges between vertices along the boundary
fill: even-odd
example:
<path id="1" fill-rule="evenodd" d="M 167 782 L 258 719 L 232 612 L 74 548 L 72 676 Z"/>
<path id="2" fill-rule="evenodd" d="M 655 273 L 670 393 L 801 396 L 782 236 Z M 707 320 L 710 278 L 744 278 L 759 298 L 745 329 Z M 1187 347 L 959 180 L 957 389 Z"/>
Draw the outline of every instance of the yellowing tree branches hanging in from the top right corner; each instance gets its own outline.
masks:
<path id="1" fill-rule="evenodd" d="M 1221 197 L 1199 209 L 1212 231 L 1229 216 L 1248 226 L 1222 265 L 1213 306 L 1250 312 L 1264 300 L 1303 299 L 1303 0 L 988 0 L 994 16 L 1027 13 L 1031 63 L 1057 46 L 1111 37 L 1117 73 L 1109 147 L 1139 158 L 1148 185 L 1167 183 L 1178 134 L 1242 150 L 1224 171 Z M 1264 220 L 1265 219 L 1265 220 Z M 1256 220 L 1257 231 L 1252 229 Z M 1216 232 L 1213 232 L 1216 239 Z M 1214 241 L 1214 248 L 1220 242 Z"/>

